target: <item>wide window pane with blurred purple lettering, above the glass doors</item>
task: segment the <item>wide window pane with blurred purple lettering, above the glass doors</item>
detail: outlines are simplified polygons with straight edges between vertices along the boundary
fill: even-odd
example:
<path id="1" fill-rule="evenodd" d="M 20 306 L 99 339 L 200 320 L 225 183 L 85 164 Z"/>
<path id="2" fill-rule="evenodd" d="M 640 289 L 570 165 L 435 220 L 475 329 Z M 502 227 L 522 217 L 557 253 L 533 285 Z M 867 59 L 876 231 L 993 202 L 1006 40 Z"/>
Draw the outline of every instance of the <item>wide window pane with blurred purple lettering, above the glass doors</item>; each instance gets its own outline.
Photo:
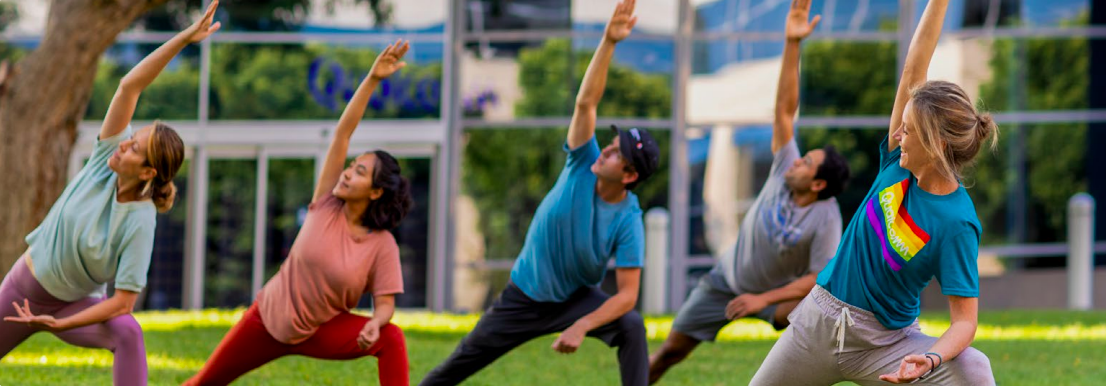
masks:
<path id="1" fill-rule="evenodd" d="M 337 119 L 384 45 L 216 44 L 211 116 Z M 407 67 L 382 82 L 367 118 L 440 116 L 441 44 L 413 43 Z"/>

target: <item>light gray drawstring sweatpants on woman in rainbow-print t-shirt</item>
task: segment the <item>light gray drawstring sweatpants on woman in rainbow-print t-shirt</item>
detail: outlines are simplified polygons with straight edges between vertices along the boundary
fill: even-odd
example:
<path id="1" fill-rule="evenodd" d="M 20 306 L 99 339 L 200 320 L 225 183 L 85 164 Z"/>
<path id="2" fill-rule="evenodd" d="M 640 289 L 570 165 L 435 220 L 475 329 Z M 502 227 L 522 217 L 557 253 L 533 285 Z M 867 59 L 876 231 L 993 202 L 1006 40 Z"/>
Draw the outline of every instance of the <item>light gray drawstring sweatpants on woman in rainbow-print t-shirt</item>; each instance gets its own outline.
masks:
<path id="1" fill-rule="evenodd" d="M 772 346 L 750 385 L 833 385 L 843 380 L 889 385 L 879 376 L 897 372 L 902 357 L 926 353 L 937 342 L 937 337 L 921 333 L 918 322 L 887 330 L 873 313 L 846 304 L 820 285 L 789 320 L 791 327 Z M 987 355 L 968 347 L 915 384 L 994 385 L 994 375 Z"/>

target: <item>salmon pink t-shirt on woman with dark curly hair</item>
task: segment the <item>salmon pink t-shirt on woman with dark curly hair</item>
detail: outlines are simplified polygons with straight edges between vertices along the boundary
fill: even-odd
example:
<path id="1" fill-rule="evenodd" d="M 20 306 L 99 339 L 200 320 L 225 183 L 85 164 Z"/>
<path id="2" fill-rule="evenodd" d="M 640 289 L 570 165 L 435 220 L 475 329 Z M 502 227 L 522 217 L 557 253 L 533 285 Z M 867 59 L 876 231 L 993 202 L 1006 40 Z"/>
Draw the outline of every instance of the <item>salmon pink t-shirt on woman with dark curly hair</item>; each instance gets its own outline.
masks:
<path id="1" fill-rule="evenodd" d="M 352 232 L 342 206 L 327 192 L 307 207 L 288 259 L 258 294 L 261 321 L 280 342 L 306 341 L 365 293 L 404 292 L 395 237 L 384 230 Z"/>

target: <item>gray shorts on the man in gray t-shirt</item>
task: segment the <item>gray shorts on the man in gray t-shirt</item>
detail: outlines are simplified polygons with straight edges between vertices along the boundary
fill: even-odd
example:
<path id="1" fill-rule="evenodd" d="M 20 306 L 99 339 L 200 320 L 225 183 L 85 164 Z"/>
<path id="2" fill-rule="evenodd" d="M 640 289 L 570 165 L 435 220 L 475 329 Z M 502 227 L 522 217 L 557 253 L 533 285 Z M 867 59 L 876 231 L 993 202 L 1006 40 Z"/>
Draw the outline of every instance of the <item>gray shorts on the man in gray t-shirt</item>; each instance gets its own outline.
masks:
<path id="1" fill-rule="evenodd" d="M 672 331 L 693 337 L 697 341 L 714 342 L 718 332 L 733 322 L 726 317 L 726 304 L 738 298 L 728 286 L 713 283 L 710 273 L 702 275 L 699 285 L 684 302 L 684 306 L 672 321 Z M 774 324 L 775 304 L 769 304 L 760 313 L 750 316 Z"/>

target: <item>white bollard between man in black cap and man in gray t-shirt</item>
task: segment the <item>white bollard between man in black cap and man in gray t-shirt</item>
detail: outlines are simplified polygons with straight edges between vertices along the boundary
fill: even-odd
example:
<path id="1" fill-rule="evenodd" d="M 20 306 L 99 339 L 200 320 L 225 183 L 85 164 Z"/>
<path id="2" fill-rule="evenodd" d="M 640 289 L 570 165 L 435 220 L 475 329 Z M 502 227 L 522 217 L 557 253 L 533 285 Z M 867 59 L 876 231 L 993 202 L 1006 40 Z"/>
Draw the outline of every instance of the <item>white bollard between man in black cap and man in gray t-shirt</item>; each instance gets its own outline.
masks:
<path id="1" fill-rule="evenodd" d="M 665 311 L 668 293 L 668 210 L 653 208 L 645 213 L 645 283 L 641 310 L 647 314 Z"/>

